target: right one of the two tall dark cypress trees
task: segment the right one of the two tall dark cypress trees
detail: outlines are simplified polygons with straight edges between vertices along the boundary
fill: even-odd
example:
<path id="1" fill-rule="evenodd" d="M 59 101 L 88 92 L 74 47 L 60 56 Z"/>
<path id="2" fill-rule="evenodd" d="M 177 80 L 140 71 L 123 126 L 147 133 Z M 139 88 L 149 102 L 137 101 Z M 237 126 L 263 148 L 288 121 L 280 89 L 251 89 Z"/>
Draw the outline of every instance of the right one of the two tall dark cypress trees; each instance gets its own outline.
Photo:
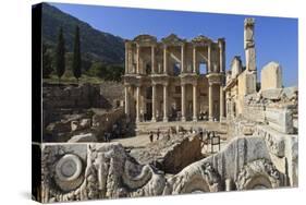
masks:
<path id="1" fill-rule="evenodd" d="M 82 76 L 82 68 L 81 68 L 81 46 L 79 46 L 79 28 L 75 27 L 75 36 L 74 36 L 74 50 L 73 50 L 73 75 L 75 76 L 77 83 L 78 79 Z"/>

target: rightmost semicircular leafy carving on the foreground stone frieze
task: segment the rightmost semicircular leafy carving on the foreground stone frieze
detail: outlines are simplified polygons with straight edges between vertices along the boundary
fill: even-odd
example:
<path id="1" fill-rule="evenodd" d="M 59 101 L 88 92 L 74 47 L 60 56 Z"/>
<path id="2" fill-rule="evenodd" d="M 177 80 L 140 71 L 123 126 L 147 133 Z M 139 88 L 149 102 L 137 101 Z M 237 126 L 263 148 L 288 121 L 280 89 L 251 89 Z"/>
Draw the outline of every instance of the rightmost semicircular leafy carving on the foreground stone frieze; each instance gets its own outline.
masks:
<path id="1" fill-rule="evenodd" d="M 245 165 L 236 180 L 237 190 L 279 188 L 283 183 L 281 173 L 267 159 L 258 159 Z"/>

